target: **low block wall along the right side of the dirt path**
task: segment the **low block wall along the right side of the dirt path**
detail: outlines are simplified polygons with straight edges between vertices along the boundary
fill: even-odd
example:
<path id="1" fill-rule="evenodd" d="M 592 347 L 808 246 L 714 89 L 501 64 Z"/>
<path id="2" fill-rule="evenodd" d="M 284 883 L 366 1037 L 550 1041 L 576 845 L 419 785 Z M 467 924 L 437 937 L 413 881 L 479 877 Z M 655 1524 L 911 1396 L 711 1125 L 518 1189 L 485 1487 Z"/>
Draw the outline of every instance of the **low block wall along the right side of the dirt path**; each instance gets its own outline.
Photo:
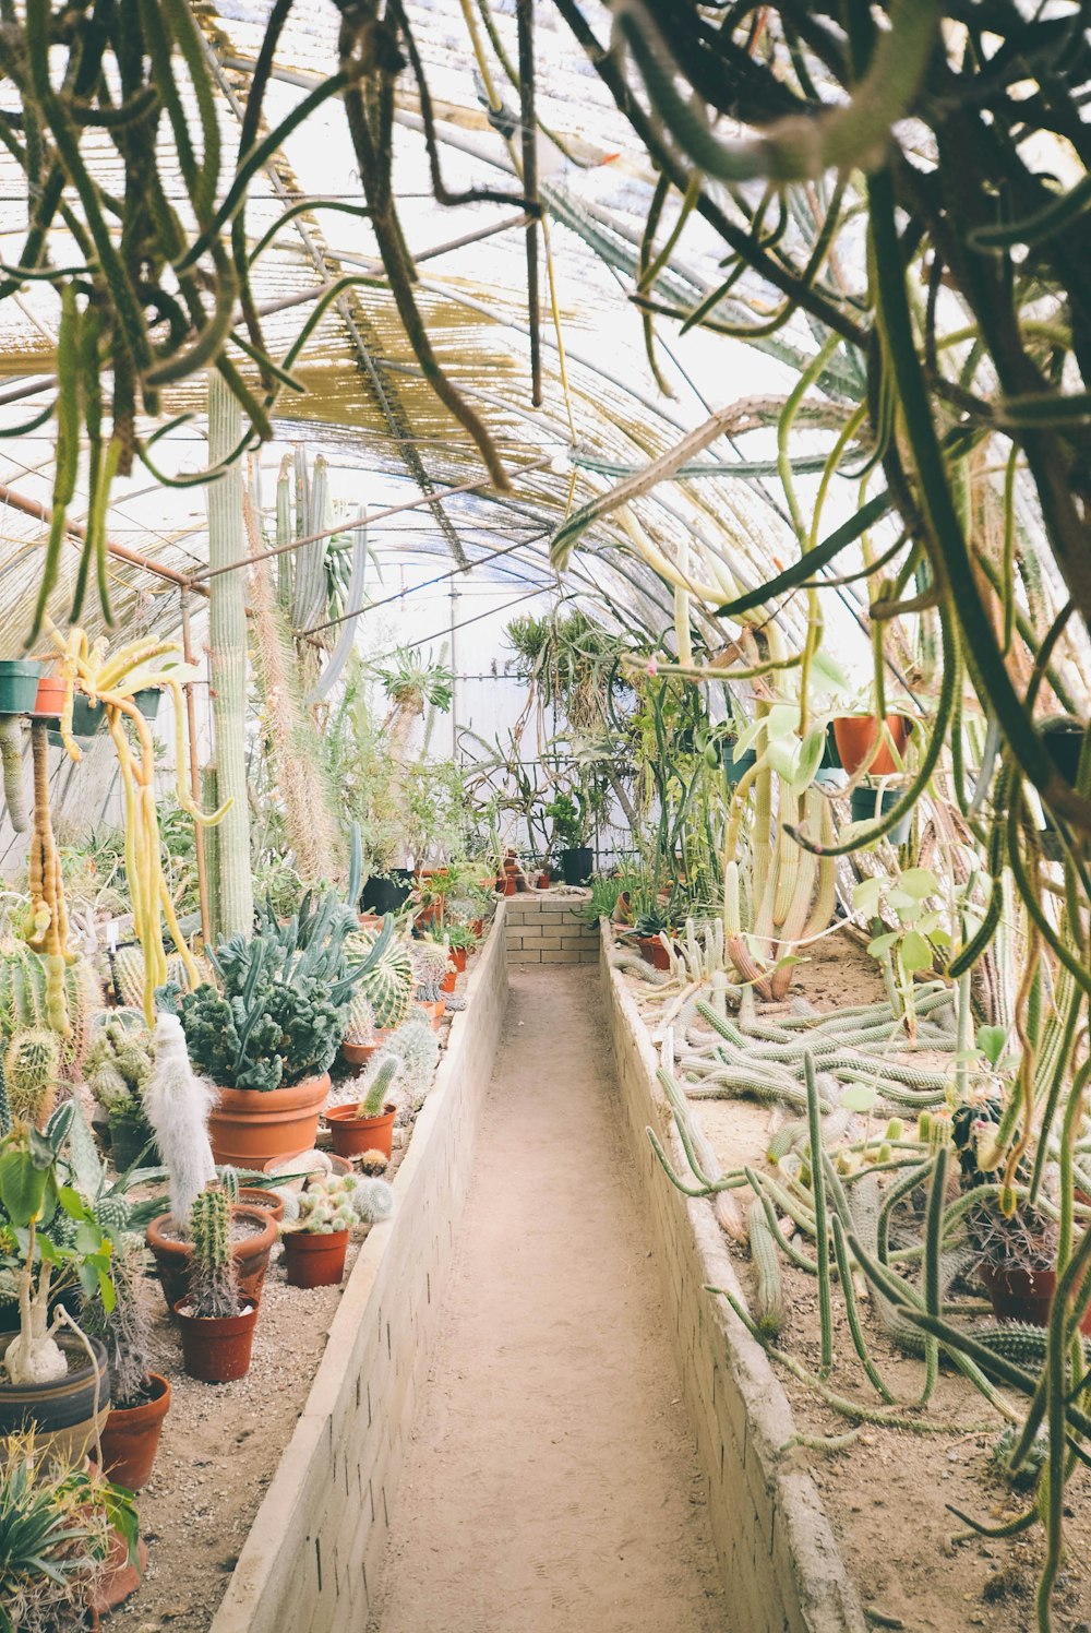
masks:
<path id="1" fill-rule="evenodd" d="M 683 1399 L 709 1486 L 724 1579 L 745 1633 L 864 1633 L 867 1622 L 818 1488 L 779 1447 L 792 1408 L 766 1352 L 706 1284 L 741 1287 L 707 1197 L 668 1181 L 645 1133 L 657 1128 L 676 1168 L 686 1156 L 655 1071 L 658 1060 L 603 926 L 603 986 L 653 1249 L 666 1290 Z"/>

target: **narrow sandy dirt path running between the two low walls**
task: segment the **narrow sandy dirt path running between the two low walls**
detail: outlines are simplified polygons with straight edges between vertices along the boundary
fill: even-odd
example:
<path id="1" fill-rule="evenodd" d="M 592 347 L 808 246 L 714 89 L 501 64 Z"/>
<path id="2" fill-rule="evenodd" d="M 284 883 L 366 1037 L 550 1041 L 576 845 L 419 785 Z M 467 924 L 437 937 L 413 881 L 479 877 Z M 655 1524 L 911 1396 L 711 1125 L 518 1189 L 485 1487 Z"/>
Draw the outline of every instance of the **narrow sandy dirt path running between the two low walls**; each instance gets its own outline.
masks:
<path id="1" fill-rule="evenodd" d="M 513 970 L 369 1633 L 727 1633 L 594 970 Z"/>

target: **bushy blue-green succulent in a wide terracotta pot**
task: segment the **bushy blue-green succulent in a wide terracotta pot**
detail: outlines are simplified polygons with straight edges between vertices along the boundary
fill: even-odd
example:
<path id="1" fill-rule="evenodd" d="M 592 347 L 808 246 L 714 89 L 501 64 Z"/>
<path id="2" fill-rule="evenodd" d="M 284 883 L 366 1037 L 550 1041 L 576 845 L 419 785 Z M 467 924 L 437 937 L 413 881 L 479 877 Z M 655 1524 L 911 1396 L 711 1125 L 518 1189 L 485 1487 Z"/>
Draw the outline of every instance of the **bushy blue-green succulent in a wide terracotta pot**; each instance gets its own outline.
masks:
<path id="1" fill-rule="evenodd" d="M 217 986 L 178 998 L 189 1060 L 219 1091 L 209 1117 L 217 1163 L 265 1168 L 314 1145 L 353 991 L 387 957 L 394 924 L 356 965 L 353 932 L 356 914 L 333 892 L 304 898 L 287 924 L 266 911 L 255 936 L 209 952 Z"/>

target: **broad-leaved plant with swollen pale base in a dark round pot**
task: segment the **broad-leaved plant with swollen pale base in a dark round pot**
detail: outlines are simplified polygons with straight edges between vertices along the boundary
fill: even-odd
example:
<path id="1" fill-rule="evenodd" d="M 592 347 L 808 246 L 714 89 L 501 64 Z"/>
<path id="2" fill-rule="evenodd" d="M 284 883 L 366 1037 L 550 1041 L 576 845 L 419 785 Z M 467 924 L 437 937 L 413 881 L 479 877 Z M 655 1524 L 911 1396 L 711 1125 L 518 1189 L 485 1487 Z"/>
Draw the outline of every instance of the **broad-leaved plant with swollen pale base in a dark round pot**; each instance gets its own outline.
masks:
<path id="1" fill-rule="evenodd" d="M 0 1208 L 18 1244 L 20 1326 L 0 1334 L 0 1434 L 34 1424 L 42 1442 L 83 1455 L 109 1409 L 106 1352 L 75 1326 L 57 1292 L 78 1279 L 113 1300 L 111 1244 L 78 1192 L 62 1184 L 59 1161 L 72 1122 L 62 1106 L 46 1132 L 20 1124 L 0 1141 Z M 77 1230 L 69 1244 L 54 1217 Z M 88 1350 L 93 1360 L 88 1360 Z"/>

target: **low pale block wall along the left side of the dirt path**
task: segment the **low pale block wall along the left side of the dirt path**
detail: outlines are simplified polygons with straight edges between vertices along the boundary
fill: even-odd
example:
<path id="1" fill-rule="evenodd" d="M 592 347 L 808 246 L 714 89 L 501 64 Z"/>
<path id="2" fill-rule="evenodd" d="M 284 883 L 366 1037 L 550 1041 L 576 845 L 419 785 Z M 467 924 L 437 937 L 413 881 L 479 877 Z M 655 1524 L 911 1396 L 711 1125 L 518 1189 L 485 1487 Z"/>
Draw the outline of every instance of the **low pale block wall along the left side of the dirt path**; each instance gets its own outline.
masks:
<path id="1" fill-rule="evenodd" d="M 503 916 L 500 903 L 394 1176 L 394 1215 L 371 1230 L 345 1282 L 209 1633 L 348 1633 L 372 1609 L 500 1042 Z"/>

